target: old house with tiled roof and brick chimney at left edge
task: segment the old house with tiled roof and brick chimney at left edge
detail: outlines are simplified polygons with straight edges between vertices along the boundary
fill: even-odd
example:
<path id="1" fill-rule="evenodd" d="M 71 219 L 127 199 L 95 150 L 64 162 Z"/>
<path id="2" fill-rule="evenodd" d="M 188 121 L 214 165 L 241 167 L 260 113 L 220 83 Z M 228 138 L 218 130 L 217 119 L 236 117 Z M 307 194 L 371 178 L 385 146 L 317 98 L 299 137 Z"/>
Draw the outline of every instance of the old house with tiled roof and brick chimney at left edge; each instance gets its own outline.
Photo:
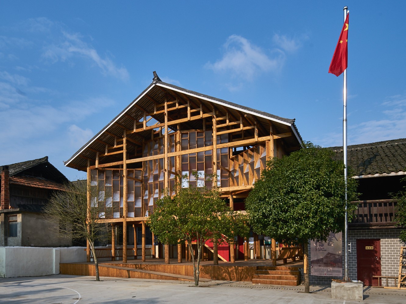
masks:
<path id="1" fill-rule="evenodd" d="M 41 214 L 52 193 L 69 182 L 48 156 L 0 166 L 0 180 L 0 246 L 71 245 L 50 234 L 52 224 Z"/>

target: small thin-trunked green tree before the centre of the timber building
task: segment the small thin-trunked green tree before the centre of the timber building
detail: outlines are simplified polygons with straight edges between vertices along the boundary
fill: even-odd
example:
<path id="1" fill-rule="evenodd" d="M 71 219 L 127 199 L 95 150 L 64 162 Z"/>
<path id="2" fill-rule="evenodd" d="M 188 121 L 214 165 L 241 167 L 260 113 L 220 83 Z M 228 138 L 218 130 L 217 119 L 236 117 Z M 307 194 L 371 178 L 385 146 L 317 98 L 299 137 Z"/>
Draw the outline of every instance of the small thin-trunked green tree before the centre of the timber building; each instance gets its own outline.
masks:
<path id="1" fill-rule="evenodd" d="M 188 242 L 194 284 L 198 286 L 201 252 L 205 242 L 214 238 L 220 244 L 233 240 L 234 235 L 247 234 L 248 231 L 243 225 L 244 216 L 226 205 L 215 186 L 209 187 L 213 184 L 213 177 L 200 180 L 197 173 L 194 176 L 198 182 L 186 181 L 185 177 L 178 179 L 175 184 L 177 194 L 173 198 L 166 191 L 149 216 L 149 226 L 164 244 Z M 202 182 L 208 186 L 201 186 Z M 197 244 L 197 259 L 193 254 L 192 242 Z"/>

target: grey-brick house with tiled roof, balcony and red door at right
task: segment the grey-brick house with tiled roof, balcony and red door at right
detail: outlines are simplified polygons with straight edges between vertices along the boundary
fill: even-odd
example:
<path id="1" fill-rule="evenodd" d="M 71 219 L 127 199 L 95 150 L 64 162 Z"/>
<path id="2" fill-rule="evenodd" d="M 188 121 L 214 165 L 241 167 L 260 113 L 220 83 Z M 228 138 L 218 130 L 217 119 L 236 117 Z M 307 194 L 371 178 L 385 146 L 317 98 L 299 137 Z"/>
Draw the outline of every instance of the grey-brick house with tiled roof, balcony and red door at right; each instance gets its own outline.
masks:
<path id="1" fill-rule="evenodd" d="M 343 159 L 342 147 L 331 147 Z M 406 139 L 348 146 L 348 167 L 358 180 L 356 216 L 348 225 L 349 275 L 365 285 L 377 285 L 372 276 L 398 276 L 401 229 L 394 221 L 396 202 L 391 193 L 406 185 Z M 403 244 L 405 246 L 405 244 Z M 327 283 L 318 277 L 313 283 Z M 394 286 L 395 280 L 389 280 Z"/>

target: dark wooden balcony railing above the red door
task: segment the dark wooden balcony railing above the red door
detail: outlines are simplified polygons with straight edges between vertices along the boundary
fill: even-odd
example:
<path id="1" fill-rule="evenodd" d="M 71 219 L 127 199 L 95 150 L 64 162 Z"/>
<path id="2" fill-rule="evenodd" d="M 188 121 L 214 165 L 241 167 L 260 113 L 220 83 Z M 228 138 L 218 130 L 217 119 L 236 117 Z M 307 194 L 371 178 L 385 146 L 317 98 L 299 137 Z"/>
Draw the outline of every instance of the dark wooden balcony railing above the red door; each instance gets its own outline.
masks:
<path id="1" fill-rule="evenodd" d="M 394 199 L 376 199 L 368 201 L 352 201 L 358 207 L 355 210 L 355 217 L 349 227 L 372 227 L 391 226 L 395 227 L 395 207 L 397 201 Z"/>

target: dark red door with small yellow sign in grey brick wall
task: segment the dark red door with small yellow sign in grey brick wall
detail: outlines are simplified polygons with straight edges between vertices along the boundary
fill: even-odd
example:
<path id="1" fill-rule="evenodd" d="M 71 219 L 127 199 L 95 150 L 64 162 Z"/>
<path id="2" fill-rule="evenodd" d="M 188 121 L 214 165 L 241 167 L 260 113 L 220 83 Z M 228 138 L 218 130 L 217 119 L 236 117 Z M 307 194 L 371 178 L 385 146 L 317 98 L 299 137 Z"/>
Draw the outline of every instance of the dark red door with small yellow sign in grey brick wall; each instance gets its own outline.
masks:
<path id="1" fill-rule="evenodd" d="M 357 280 L 366 286 L 378 286 L 381 275 L 380 240 L 356 240 Z"/>

